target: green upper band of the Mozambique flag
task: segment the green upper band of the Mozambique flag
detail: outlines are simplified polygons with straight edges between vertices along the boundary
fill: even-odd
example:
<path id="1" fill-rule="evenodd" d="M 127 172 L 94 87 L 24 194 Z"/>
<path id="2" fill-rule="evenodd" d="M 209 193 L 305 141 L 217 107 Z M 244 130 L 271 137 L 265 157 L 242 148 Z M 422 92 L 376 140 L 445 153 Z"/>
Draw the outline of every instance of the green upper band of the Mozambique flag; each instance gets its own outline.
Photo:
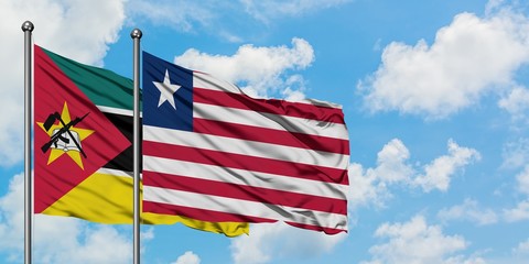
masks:
<path id="1" fill-rule="evenodd" d="M 94 105 L 132 110 L 131 79 L 108 69 L 77 63 L 45 48 L 43 51 Z"/>

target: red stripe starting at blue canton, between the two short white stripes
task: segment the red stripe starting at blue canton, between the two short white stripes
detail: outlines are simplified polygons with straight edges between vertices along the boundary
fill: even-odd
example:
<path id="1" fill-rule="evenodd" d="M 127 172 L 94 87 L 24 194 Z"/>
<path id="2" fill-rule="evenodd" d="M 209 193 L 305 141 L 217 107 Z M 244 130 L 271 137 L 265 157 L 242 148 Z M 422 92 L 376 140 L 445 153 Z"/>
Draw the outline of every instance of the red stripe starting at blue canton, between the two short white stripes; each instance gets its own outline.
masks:
<path id="1" fill-rule="evenodd" d="M 255 99 L 247 95 L 216 91 L 197 87 L 193 88 L 193 101 L 331 123 L 345 123 L 344 113 L 339 108 L 290 102 L 278 99 Z"/>

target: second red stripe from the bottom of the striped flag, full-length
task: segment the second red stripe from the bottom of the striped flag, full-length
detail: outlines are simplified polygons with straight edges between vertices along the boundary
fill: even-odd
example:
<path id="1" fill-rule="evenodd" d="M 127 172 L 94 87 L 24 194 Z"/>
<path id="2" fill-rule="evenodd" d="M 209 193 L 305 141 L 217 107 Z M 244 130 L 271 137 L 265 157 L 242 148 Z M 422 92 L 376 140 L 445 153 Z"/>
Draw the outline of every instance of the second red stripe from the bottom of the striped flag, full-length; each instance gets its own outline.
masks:
<path id="1" fill-rule="evenodd" d="M 192 191 L 196 194 L 220 196 L 330 213 L 347 215 L 347 201 L 341 199 L 147 170 L 143 170 L 143 185 L 145 186 Z M 199 177 L 201 175 L 195 176 Z"/>

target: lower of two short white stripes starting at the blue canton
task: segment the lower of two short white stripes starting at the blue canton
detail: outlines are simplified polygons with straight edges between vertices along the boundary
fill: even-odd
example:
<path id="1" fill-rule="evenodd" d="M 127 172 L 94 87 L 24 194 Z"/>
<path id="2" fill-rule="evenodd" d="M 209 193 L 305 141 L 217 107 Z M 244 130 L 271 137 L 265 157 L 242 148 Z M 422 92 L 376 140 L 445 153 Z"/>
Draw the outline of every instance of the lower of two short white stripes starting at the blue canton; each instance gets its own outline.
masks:
<path id="1" fill-rule="evenodd" d="M 193 117 L 333 139 L 348 139 L 347 129 L 345 124 L 341 123 L 218 107 L 198 102 L 193 103 Z"/>

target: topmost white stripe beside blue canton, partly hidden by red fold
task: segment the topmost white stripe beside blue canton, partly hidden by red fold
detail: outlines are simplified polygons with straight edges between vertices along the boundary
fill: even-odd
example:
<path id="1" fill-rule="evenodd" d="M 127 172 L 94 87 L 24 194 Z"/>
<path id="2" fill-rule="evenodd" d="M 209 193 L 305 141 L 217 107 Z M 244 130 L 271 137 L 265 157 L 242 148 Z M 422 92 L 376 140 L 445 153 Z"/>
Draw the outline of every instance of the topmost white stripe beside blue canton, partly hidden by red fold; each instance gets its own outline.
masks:
<path id="1" fill-rule="evenodd" d="M 208 90 L 238 94 L 238 95 L 246 95 L 240 88 L 238 88 L 237 86 L 228 81 L 216 79 L 215 77 L 208 74 L 198 73 L 198 72 L 193 73 L 193 87 L 208 89 Z M 296 100 L 295 102 L 302 102 L 302 103 L 319 106 L 319 107 L 342 109 L 342 106 L 337 103 L 320 101 L 315 99 Z"/>

